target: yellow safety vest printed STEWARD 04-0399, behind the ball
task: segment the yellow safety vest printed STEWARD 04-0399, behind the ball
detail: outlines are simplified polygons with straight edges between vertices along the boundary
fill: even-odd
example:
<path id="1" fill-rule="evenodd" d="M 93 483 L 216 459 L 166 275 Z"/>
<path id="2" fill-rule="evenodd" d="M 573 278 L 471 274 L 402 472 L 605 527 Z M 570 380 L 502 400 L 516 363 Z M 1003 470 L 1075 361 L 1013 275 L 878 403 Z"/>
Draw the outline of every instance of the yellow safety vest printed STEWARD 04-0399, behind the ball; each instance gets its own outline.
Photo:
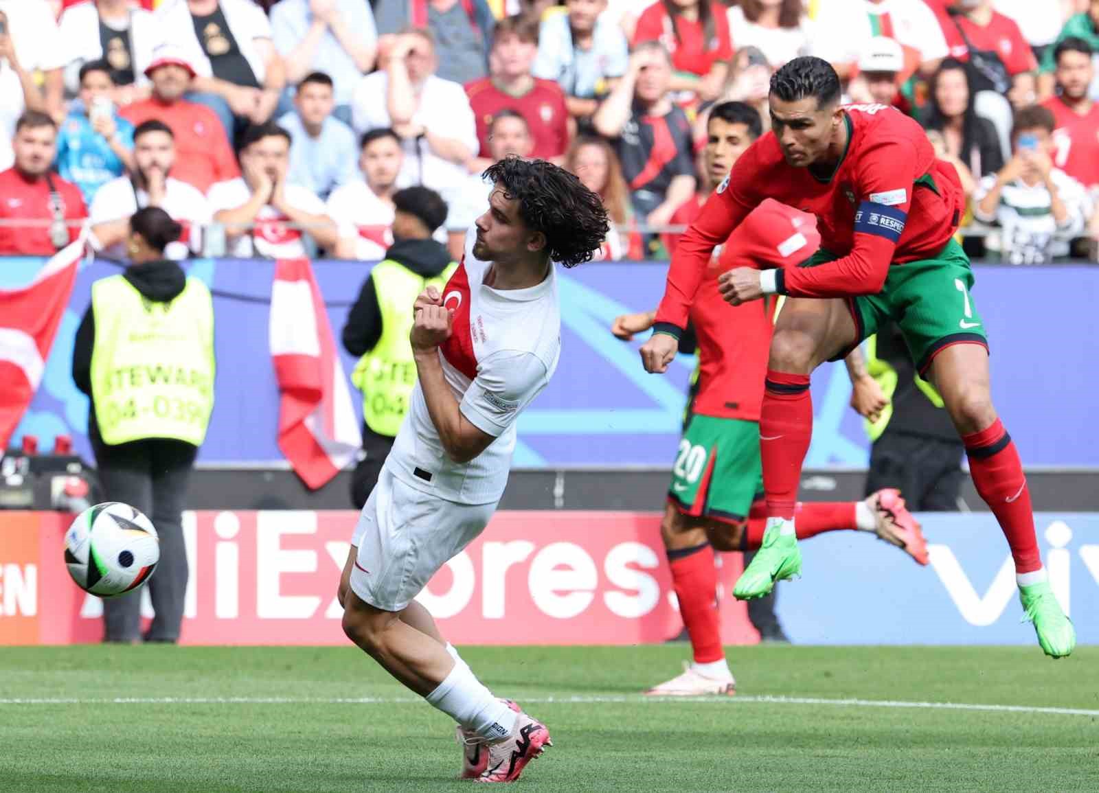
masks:
<path id="1" fill-rule="evenodd" d="M 175 438 L 201 446 L 213 410 L 213 300 L 188 278 L 170 303 L 122 276 L 91 286 L 91 396 L 103 443 Z"/>

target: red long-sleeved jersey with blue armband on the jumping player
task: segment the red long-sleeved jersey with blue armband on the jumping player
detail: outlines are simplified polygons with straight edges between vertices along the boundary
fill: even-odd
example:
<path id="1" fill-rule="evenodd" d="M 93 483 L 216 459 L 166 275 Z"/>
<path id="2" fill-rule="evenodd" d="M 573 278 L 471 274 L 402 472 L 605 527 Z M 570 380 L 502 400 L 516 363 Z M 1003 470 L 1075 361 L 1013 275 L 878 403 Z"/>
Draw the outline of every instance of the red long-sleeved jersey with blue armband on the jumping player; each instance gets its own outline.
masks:
<path id="1" fill-rule="evenodd" d="M 890 264 L 939 253 L 957 228 L 965 196 L 923 129 L 881 104 L 844 108 L 847 145 L 830 179 L 786 164 L 773 132 L 741 155 L 679 239 L 657 323 L 684 327 L 710 252 L 773 198 L 817 215 L 821 246 L 840 258 L 778 270 L 780 294 L 842 298 L 881 291 Z"/>

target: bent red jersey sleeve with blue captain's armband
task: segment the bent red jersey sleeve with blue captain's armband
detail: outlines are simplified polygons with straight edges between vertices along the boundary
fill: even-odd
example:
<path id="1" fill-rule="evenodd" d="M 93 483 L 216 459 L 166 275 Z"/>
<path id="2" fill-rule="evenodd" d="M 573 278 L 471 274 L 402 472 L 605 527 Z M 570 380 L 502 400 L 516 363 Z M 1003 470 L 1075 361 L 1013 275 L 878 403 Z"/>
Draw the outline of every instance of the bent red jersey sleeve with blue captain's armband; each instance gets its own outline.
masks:
<path id="1" fill-rule="evenodd" d="M 911 141 L 901 137 L 855 155 L 859 160 L 854 188 L 863 199 L 855 210 L 851 253 L 815 267 L 779 270 L 776 287 L 780 293 L 846 298 L 881 291 L 912 205 L 914 149 Z M 901 164 L 909 167 L 898 167 Z"/>

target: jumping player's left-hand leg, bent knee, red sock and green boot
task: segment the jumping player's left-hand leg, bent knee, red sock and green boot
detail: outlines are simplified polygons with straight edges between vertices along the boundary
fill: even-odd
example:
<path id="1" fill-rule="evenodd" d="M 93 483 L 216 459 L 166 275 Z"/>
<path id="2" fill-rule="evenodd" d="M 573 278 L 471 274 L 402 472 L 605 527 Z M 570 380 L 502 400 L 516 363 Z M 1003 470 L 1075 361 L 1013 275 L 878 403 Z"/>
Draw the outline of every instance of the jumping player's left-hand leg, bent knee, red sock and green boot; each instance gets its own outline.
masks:
<path id="1" fill-rule="evenodd" d="M 767 526 L 758 552 L 733 588 L 739 600 L 762 597 L 776 581 L 801 573 L 793 513 L 813 432 L 809 373 L 855 340 L 854 321 L 840 300 L 787 300 L 778 315 L 759 413 Z"/>

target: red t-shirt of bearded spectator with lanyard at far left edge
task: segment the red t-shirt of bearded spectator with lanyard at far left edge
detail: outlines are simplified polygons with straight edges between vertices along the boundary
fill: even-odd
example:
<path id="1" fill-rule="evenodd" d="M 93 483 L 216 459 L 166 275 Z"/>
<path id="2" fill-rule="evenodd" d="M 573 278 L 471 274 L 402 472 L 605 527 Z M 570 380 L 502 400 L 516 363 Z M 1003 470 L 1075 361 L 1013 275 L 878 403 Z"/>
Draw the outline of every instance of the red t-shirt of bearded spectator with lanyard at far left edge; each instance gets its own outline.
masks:
<path id="1" fill-rule="evenodd" d="M 51 175 L 54 188 L 62 198 L 63 214 L 68 221 L 88 216 L 80 189 L 56 174 Z M 0 220 L 49 221 L 49 183 L 45 177 L 30 180 L 14 168 L 0 172 Z M 80 223 L 69 223 L 69 242 L 80 234 Z M 0 224 L 0 254 L 7 256 L 53 256 L 57 247 L 49 239 L 49 226 L 37 223 L 20 226 Z"/>

